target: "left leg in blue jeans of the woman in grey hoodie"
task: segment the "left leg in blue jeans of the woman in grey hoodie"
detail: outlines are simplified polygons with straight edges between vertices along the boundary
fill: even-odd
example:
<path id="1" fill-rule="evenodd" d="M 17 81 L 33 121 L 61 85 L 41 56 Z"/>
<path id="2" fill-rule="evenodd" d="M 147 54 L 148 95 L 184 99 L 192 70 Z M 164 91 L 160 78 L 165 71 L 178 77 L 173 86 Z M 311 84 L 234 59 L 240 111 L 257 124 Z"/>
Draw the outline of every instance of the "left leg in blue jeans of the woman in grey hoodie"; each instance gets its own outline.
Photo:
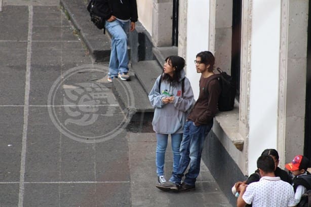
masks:
<path id="1" fill-rule="evenodd" d="M 165 151 L 167 147 L 168 135 L 155 134 L 157 137 L 157 149 L 155 150 L 155 165 L 157 166 L 157 175 L 164 175 Z"/>

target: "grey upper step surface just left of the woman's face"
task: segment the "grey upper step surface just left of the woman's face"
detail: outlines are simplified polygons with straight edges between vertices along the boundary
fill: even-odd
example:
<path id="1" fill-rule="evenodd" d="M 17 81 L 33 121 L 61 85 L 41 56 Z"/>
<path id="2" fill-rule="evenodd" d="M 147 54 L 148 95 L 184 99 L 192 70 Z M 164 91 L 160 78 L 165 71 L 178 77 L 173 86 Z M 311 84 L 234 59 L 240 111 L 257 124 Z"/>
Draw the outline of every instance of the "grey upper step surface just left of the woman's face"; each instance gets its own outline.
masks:
<path id="1" fill-rule="evenodd" d="M 156 60 L 132 63 L 132 69 L 146 94 L 149 94 L 155 80 L 162 73 L 162 68 Z"/>

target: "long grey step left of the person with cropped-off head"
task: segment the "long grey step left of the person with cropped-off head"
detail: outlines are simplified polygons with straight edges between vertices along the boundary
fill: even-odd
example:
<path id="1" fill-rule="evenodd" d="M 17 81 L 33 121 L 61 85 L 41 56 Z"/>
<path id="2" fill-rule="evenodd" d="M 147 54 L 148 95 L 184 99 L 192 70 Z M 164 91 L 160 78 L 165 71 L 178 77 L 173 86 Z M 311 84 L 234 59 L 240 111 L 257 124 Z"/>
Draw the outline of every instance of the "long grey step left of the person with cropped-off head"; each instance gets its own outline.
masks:
<path id="1" fill-rule="evenodd" d="M 60 5 L 73 26 L 80 32 L 83 42 L 95 61 L 109 61 L 110 37 L 108 32 L 103 34 L 103 30 L 97 29 L 91 22 L 86 2 L 84 0 L 60 0 Z"/>

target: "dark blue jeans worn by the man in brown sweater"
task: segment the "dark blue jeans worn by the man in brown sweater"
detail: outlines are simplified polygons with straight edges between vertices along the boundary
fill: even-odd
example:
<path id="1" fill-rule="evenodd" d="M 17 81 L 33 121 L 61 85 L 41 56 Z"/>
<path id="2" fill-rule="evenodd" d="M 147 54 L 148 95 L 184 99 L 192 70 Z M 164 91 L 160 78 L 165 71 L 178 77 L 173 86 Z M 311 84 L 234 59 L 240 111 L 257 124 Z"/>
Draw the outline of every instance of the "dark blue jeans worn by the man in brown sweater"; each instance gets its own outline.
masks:
<path id="1" fill-rule="evenodd" d="M 213 122 L 209 125 L 195 126 L 193 121 L 187 121 L 183 128 L 183 138 L 180 144 L 180 160 L 177 175 L 172 175 L 170 181 L 180 183 L 188 165 L 189 170 L 185 175 L 184 183 L 195 185 L 200 173 L 201 155 L 204 140 L 212 129 Z"/>

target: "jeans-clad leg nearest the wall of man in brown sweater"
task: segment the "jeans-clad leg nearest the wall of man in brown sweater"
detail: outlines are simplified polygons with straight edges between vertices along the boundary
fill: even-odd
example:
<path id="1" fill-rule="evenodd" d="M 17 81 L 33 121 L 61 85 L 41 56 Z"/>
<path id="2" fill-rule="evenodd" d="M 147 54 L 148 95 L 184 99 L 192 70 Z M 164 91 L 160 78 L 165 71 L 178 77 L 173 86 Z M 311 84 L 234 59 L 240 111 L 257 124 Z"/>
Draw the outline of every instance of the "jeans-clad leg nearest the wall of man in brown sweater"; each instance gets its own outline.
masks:
<path id="1" fill-rule="evenodd" d="M 189 148 L 189 170 L 188 173 L 185 175 L 184 183 L 189 186 L 195 186 L 197 177 L 200 173 L 200 164 L 201 164 L 201 155 L 203 150 L 204 140 L 207 137 L 208 132 L 211 130 L 212 124 L 209 126 L 195 126 L 192 125 L 190 127 L 189 134 L 191 135 L 191 143 Z"/>

